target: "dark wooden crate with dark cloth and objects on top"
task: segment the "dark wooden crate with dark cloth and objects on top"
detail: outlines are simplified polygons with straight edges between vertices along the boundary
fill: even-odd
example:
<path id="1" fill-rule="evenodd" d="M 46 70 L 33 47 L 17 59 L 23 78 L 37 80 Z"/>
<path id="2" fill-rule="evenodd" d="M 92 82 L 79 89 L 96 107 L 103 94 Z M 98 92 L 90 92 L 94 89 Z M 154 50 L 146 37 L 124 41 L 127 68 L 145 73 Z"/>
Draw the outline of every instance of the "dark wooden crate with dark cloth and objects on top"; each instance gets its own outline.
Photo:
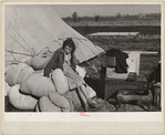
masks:
<path id="1" fill-rule="evenodd" d="M 137 80 L 134 82 L 127 82 L 125 79 L 110 79 L 106 77 L 106 69 L 102 68 L 100 74 L 100 92 L 99 96 L 107 100 L 117 90 L 135 90 L 145 91 L 147 89 L 147 80 L 143 75 L 137 75 Z"/>

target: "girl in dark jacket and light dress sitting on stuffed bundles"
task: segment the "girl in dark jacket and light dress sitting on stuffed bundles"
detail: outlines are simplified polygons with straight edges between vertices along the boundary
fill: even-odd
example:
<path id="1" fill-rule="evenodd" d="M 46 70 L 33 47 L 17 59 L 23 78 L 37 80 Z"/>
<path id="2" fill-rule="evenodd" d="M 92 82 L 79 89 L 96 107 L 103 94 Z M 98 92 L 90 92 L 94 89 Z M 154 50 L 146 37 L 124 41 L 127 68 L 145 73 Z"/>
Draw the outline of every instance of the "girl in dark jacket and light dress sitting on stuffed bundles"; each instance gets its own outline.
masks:
<path id="1" fill-rule="evenodd" d="M 78 90 L 78 93 L 83 102 L 84 110 L 90 107 L 99 107 L 99 104 L 90 97 L 86 92 L 84 80 L 78 74 L 75 68 L 79 61 L 74 56 L 75 44 L 71 38 L 63 42 L 63 46 L 58 49 L 50 62 L 44 69 L 44 76 L 49 76 L 51 70 L 61 69 L 66 76 L 69 89 Z"/>

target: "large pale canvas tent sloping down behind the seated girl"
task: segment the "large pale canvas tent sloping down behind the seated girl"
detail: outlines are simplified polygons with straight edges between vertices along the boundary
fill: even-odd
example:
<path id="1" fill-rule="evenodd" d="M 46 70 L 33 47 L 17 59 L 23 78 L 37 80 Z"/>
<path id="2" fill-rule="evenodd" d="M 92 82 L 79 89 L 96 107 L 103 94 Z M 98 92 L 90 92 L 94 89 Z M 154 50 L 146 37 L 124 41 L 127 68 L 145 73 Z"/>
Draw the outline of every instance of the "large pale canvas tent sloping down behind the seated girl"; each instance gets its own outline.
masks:
<path id="1" fill-rule="evenodd" d="M 6 66 L 14 61 L 31 58 L 44 48 L 54 51 L 66 38 L 76 44 L 80 62 L 96 56 L 103 50 L 82 37 L 54 12 L 42 4 L 7 4 L 4 7 Z"/>

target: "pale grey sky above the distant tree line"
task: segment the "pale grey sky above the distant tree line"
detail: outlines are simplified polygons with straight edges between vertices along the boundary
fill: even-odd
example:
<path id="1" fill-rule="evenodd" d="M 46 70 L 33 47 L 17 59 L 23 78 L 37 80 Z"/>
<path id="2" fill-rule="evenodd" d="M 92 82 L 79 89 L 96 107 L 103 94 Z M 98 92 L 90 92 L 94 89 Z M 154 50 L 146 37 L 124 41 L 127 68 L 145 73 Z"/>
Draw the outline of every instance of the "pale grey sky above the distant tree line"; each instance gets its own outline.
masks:
<path id="1" fill-rule="evenodd" d="M 53 4 L 51 7 L 61 18 L 71 17 L 73 12 L 80 17 L 161 12 L 161 4 Z"/>

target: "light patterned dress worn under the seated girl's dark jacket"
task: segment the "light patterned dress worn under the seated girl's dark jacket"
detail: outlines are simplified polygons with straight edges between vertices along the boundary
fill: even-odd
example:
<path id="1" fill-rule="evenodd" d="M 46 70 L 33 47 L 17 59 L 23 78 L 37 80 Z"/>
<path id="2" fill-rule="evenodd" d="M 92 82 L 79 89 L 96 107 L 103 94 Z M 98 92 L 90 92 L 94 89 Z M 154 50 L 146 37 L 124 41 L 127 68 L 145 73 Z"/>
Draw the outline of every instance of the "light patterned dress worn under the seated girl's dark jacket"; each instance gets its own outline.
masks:
<path id="1" fill-rule="evenodd" d="M 64 54 L 63 73 L 66 76 L 70 90 L 85 84 L 84 80 L 71 68 L 71 54 Z"/>

